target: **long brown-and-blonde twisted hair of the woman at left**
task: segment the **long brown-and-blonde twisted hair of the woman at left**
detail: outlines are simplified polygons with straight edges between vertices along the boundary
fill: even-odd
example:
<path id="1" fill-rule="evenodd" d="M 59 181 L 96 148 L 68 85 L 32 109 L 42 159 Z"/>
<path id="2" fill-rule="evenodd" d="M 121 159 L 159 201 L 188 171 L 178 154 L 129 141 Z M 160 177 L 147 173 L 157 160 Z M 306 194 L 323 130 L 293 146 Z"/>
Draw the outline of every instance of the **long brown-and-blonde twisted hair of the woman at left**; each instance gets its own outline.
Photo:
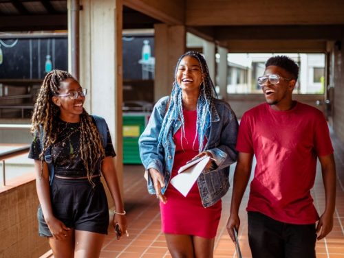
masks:
<path id="1" fill-rule="evenodd" d="M 40 126 L 43 128 L 44 147 L 40 154 L 43 160 L 43 154 L 54 144 L 57 137 L 57 121 L 60 114 L 60 108 L 52 102 L 52 97 L 58 95 L 61 82 L 73 78 L 67 71 L 52 70 L 45 75 L 41 89 L 34 104 L 34 113 L 32 115 L 32 132 L 40 132 Z M 97 164 L 105 157 L 105 150 L 96 125 L 92 121 L 92 117 L 83 110 L 80 115 L 80 156 L 87 171 L 87 177 L 92 183 L 92 175 L 94 174 Z"/>

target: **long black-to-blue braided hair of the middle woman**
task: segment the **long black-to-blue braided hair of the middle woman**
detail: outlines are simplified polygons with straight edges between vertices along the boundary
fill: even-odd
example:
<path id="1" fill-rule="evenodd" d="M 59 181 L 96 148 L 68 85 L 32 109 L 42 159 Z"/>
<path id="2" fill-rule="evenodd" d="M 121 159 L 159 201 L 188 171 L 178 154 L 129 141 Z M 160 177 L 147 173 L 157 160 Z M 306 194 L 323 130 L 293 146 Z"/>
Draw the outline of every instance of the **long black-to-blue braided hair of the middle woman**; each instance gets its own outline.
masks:
<path id="1" fill-rule="evenodd" d="M 175 67 L 175 80 L 173 82 L 173 88 L 171 96 L 169 97 L 169 108 L 164 115 L 164 120 L 162 121 L 162 127 L 158 137 L 158 146 L 162 146 L 162 139 L 167 139 L 167 135 L 170 130 L 173 130 L 173 121 L 180 119 L 182 122 L 182 137 L 185 138 L 185 123 L 183 116 L 183 106 L 182 106 L 182 89 L 177 82 L 177 71 L 180 62 L 185 56 L 191 56 L 195 58 L 200 63 L 201 73 L 203 75 L 203 82 L 200 85 L 200 95 L 197 101 L 197 122 L 196 131 L 199 142 L 199 152 L 204 150 L 204 137 L 206 136 L 207 130 L 211 126 L 211 109 L 213 108 L 213 97 L 215 92 L 215 87 L 208 71 L 208 65 L 206 65 L 206 60 L 202 54 L 197 51 L 188 51 L 178 59 L 177 65 Z M 196 136 L 193 141 L 195 144 Z"/>

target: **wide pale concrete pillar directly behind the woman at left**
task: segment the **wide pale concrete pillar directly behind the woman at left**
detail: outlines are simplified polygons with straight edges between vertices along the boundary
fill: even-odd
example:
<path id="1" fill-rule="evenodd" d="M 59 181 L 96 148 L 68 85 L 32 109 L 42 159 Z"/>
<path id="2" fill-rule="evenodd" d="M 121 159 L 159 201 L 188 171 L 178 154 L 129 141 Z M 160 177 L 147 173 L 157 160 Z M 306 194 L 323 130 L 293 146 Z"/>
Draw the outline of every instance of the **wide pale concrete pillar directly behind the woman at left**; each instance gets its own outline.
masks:
<path id="1" fill-rule="evenodd" d="M 89 90 L 87 111 L 107 121 L 122 187 L 122 0 L 82 3 L 79 81 Z"/>

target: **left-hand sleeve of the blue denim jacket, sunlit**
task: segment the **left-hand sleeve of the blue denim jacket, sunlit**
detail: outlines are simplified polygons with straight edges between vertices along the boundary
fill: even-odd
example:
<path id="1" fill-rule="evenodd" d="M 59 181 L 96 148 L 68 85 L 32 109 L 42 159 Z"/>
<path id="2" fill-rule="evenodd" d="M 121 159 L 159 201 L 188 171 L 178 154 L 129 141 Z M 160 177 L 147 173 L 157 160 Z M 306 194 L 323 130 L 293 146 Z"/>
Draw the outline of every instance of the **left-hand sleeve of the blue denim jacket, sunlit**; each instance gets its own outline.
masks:
<path id="1" fill-rule="evenodd" d="M 168 96 L 162 97 L 155 104 L 149 122 L 138 140 L 140 158 L 144 168 L 146 170 L 155 168 L 162 174 L 164 169 L 164 152 L 162 148 L 158 148 L 158 137 L 168 100 Z"/>

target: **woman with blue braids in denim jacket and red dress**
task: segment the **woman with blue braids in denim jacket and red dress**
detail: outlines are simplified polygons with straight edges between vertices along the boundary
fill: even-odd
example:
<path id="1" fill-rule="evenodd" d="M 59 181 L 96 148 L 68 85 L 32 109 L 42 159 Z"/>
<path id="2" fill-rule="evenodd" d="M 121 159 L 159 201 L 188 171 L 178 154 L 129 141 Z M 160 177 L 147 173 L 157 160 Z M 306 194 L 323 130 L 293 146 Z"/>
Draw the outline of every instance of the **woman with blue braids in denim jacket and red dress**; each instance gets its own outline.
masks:
<path id="1" fill-rule="evenodd" d="M 183 54 L 171 95 L 155 104 L 139 139 L 148 191 L 160 199 L 162 232 L 172 257 L 213 257 L 229 165 L 237 160 L 238 129 L 233 110 L 214 93 L 204 57 Z M 169 181 L 187 161 L 204 155 L 215 161 L 184 197 Z"/>

